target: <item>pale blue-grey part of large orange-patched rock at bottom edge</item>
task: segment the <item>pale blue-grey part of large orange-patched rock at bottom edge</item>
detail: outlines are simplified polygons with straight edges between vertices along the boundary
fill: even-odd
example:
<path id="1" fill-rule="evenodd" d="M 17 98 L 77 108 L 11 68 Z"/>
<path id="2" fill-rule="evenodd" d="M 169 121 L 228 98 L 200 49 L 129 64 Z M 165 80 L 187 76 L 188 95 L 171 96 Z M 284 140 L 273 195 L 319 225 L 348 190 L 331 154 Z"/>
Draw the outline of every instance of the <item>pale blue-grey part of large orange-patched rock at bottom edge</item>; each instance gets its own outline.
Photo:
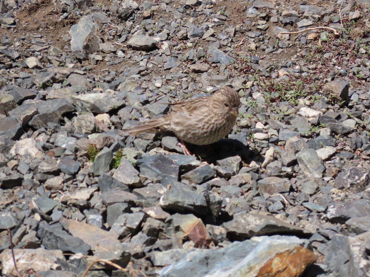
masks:
<path id="1" fill-rule="evenodd" d="M 189 276 L 189 272 L 194 277 L 245 276 L 246 272 L 250 276 L 258 276 L 262 267 L 279 256 L 279 253 L 293 252 L 295 251 L 293 249 L 299 249 L 306 243 L 307 240 L 294 236 L 262 236 L 253 240 L 233 242 L 218 249 L 194 249 L 177 263 L 161 269 L 159 276 L 186 277 Z M 304 252 L 306 254 L 303 255 L 299 252 L 295 253 L 302 255 L 302 259 L 309 261 L 308 264 L 313 263 L 314 255 L 308 250 Z M 203 262 L 205 260 L 207 262 Z M 273 271 L 272 274 L 278 273 Z"/>

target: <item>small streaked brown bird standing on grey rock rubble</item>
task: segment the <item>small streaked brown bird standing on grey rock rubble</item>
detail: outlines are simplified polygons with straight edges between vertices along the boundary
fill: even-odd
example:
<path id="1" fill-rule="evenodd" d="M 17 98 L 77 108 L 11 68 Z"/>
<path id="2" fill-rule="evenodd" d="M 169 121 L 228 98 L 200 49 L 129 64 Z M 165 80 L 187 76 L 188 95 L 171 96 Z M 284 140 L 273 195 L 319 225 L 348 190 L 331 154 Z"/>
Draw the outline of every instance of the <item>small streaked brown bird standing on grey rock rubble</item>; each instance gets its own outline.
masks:
<path id="1" fill-rule="evenodd" d="M 165 126 L 174 132 L 189 155 L 184 141 L 206 145 L 221 140 L 235 124 L 240 106 L 240 96 L 228 87 L 216 90 L 211 96 L 170 104 L 172 111 L 165 116 L 146 120 L 142 125 L 123 129 L 129 134 L 138 134 L 154 127 Z"/>

